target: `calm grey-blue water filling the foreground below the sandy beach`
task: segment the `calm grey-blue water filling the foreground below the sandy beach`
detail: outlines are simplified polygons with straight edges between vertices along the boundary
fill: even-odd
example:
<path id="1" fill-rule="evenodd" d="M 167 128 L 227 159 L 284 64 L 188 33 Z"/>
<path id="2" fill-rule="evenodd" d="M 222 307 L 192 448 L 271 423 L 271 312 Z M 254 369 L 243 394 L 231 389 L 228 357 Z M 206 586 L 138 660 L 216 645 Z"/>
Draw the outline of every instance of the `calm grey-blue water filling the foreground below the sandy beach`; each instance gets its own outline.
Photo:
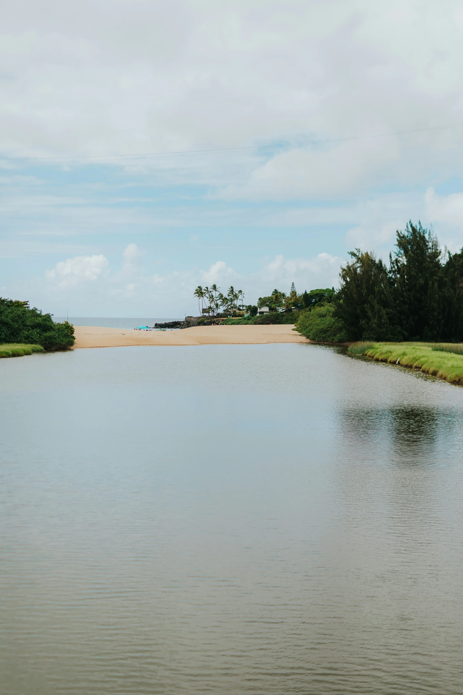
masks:
<path id="1" fill-rule="evenodd" d="M 298 344 L 0 389 L 2 695 L 462 692 L 463 389 Z"/>

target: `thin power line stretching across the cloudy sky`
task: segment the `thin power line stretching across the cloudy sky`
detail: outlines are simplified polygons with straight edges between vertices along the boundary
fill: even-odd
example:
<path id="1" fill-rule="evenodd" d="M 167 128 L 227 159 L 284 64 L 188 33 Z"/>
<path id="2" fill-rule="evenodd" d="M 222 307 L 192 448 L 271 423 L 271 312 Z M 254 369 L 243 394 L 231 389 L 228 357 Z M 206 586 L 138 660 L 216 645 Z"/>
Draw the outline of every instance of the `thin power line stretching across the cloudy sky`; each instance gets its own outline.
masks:
<path id="1" fill-rule="evenodd" d="M 329 142 L 349 142 L 353 140 L 373 140 L 374 138 L 392 138 L 397 135 L 408 135 L 409 133 L 424 133 L 427 131 L 436 130 L 447 130 L 449 128 L 455 128 L 460 124 L 455 124 L 453 126 L 430 126 L 428 128 L 416 128 L 413 130 L 396 131 L 395 133 L 378 133 L 376 135 L 364 135 L 364 136 L 350 136 L 348 138 L 326 138 L 323 140 L 308 140 L 307 142 L 287 142 L 276 145 L 250 145 L 247 147 L 219 147 L 217 149 L 185 149 L 173 152 L 141 152 L 134 154 L 94 154 L 87 156 L 67 156 L 67 157 L 8 157 L 0 156 L 8 161 L 21 161 L 21 162 L 49 162 L 49 163 L 59 163 L 59 162 L 80 162 L 80 161 L 92 161 L 92 160 L 112 160 L 112 159 L 138 159 L 138 158 L 160 158 L 160 157 L 171 157 L 171 156 L 187 156 L 190 154 L 227 154 L 228 152 L 256 152 L 264 149 L 289 149 L 291 147 L 300 148 L 308 147 L 310 145 L 323 145 Z"/>

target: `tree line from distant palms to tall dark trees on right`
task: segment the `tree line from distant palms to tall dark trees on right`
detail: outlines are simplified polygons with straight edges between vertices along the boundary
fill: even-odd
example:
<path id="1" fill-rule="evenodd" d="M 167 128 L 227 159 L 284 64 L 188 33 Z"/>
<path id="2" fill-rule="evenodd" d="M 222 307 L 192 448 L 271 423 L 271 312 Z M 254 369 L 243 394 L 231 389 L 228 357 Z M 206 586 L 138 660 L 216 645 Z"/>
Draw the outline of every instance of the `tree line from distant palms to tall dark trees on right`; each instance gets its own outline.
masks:
<path id="1" fill-rule="evenodd" d="M 441 250 L 432 229 L 410 221 L 396 231 L 389 263 L 360 249 L 349 255 L 337 291 L 298 294 L 293 283 L 288 294 L 274 289 L 257 306 L 245 306 L 244 293 L 233 287 L 225 296 L 215 285 L 195 295 L 212 316 L 245 309 L 251 316 L 242 322 L 290 322 L 291 313 L 296 329 L 315 341 L 463 341 L 463 249 Z M 267 317 L 253 319 L 262 306 L 269 307 Z"/>

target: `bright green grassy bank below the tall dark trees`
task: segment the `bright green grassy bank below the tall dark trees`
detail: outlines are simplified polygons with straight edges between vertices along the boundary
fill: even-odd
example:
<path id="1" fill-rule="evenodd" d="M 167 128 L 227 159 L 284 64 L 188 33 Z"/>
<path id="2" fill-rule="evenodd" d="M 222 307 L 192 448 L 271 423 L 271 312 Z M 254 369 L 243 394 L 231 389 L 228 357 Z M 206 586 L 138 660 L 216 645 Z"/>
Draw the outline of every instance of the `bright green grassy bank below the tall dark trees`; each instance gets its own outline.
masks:
<path id="1" fill-rule="evenodd" d="M 455 343 L 353 343 L 351 354 L 400 364 L 463 385 L 463 345 Z"/>

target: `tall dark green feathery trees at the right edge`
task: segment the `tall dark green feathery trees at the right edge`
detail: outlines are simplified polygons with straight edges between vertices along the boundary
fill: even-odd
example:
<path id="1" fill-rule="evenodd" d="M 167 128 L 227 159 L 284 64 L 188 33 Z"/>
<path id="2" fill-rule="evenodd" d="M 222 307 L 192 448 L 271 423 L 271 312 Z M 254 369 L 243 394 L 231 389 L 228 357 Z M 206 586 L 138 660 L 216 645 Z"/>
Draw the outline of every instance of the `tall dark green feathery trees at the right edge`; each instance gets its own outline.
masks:
<path id="1" fill-rule="evenodd" d="M 397 231 L 389 268 L 360 249 L 351 257 L 335 296 L 350 340 L 463 339 L 463 250 L 444 256 L 437 238 L 410 222 Z"/>

